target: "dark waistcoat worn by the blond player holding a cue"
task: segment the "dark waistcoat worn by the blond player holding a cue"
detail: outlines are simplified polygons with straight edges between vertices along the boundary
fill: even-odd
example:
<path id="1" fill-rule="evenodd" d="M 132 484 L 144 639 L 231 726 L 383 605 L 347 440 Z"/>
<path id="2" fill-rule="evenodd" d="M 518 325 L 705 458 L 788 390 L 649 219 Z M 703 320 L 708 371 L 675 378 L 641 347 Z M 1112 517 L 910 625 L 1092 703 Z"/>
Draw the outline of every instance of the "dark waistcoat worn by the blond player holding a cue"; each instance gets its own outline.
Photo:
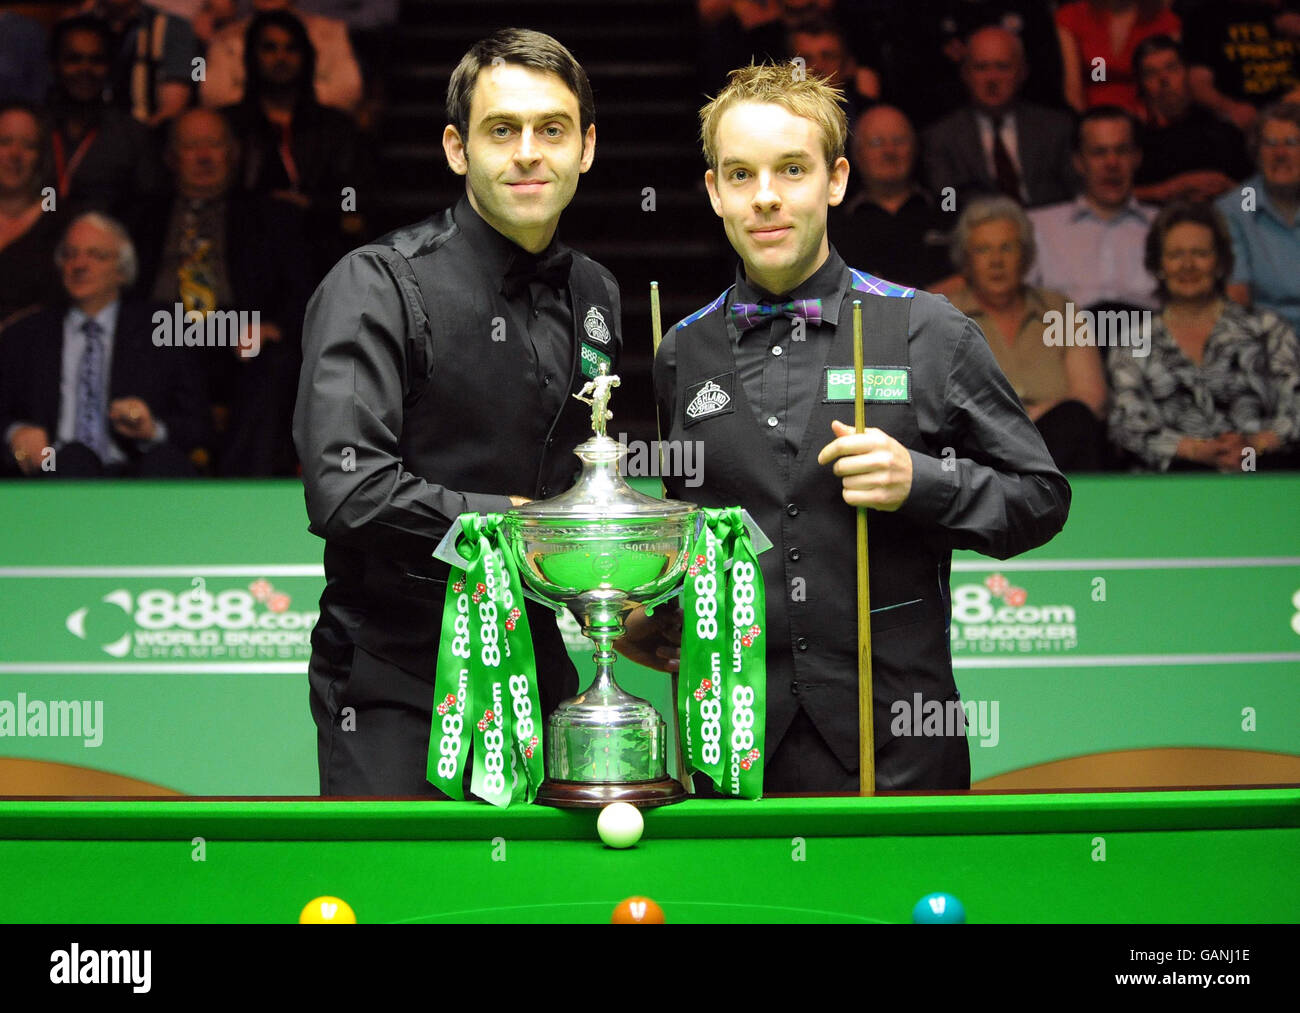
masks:
<path id="1" fill-rule="evenodd" d="M 672 440 L 702 441 L 699 488 L 670 484 L 671 493 L 702 506 L 741 505 L 772 540 L 759 557 L 767 593 L 767 754 L 802 707 L 848 770 L 858 769 L 858 646 L 855 511 L 841 480 L 818 464 L 833 433 L 831 420 L 853 424 L 852 401 L 827 401 L 826 367 L 853 367 L 853 299 L 862 300 L 864 365 L 909 365 L 910 298 L 849 287 L 838 326 L 819 372 L 820 397 L 805 427 L 789 477 L 760 432 L 741 384 L 727 329 L 727 298 L 676 330 L 676 416 Z M 731 397 L 703 402 L 688 416 L 701 384 L 714 380 Z M 707 395 L 706 395 L 707 397 Z M 699 410 L 697 404 L 697 411 Z M 905 447 L 935 455 L 922 441 L 910 403 L 866 404 L 866 424 Z M 698 454 L 698 451 L 697 451 Z M 697 456 L 697 460 L 701 460 Z M 956 694 L 948 644 L 950 554 L 897 514 L 867 511 L 871 580 L 871 645 L 876 746 L 889 732 L 890 705 L 913 693 L 924 700 Z"/>

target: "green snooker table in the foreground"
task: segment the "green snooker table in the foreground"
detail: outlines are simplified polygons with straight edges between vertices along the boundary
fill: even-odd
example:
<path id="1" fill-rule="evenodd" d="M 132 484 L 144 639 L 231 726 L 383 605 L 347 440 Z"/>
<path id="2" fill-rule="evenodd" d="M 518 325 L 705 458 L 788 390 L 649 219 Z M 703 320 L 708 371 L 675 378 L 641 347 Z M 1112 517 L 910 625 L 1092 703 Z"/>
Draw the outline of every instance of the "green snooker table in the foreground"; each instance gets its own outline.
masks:
<path id="1" fill-rule="evenodd" d="M 690 800 L 612 850 L 594 811 L 332 800 L 0 801 L 0 921 L 1294 922 L 1300 788 Z"/>

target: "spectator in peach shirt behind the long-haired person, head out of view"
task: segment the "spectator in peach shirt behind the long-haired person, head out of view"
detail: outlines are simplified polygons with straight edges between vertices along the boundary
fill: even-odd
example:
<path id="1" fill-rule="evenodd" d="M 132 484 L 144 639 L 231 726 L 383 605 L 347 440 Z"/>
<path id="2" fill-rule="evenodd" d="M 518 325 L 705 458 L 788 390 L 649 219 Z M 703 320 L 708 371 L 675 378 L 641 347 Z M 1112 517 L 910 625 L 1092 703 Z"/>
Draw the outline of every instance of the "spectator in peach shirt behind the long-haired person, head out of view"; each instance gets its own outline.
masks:
<path id="1" fill-rule="evenodd" d="M 352 114 L 361 104 L 361 68 L 352 53 L 347 26 L 335 18 L 299 10 L 294 0 L 252 0 L 256 14 L 283 12 L 292 14 L 307 30 L 316 65 L 309 81 L 315 83 L 316 101 Z M 248 81 L 244 40 L 250 20 L 242 18 L 221 29 L 208 47 L 208 74 L 200 87 L 204 105 L 235 105 L 246 98 Z"/>

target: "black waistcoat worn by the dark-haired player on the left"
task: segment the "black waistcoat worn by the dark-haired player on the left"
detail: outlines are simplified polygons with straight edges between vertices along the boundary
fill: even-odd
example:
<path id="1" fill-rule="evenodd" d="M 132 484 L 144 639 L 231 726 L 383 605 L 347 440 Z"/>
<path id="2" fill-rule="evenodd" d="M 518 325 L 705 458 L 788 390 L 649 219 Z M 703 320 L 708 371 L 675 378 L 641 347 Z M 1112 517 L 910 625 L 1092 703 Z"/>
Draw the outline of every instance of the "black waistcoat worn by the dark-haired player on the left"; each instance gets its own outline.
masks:
<path id="1" fill-rule="evenodd" d="M 572 485 L 580 468 L 573 447 L 592 434 L 590 407 L 566 397 L 558 414 L 543 411 L 537 356 L 524 320 L 498 291 L 499 278 L 484 276 L 481 257 L 450 211 L 429 224 L 433 239 L 428 226 L 420 226 L 415 250 L 402 231 L 378 241 L 403 254 L 432 334 L 429 345 L 415 335 L 407 343 L 413 380 L 403 398 L 403 464 L 458 492 L 555 495 Z M 568 294 L 572 365 L 554 382 L 577 393 L 586 382 L 584 362 L 590 368 L 606 356 L 611 372 L 618 367 L 621 334 L 604 277 L 576 251 Z M 325 572 L 332 585 L 335 575 L 347 575 L 344 586 L 326 589 L 322 607 L 332 597 L 358 607 L 363 618 L 355 641 L 433 681 L 447 566 L 429 557 L 394 559 L 328 544 Z M 532 601 L 528 612 L 549 711 L 577 692 L 576 672 L 554 614 Z"/>

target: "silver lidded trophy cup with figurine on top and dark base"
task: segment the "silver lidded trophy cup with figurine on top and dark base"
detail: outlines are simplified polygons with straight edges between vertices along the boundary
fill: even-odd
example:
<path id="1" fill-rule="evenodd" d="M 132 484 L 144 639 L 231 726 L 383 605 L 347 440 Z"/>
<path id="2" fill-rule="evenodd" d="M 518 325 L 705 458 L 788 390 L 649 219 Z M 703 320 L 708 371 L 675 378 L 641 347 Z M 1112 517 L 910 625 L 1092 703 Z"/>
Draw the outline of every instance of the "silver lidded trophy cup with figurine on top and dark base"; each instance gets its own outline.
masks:
<path id="1" fill-rule="evenodd" d="M 520 580 L 537 599 L 568 607 L 595 644 L 595 679 L 546 724 L 546 780 L 537 801 L 566 808 L 685 798 L 667 774 L 668 733 L 651 704 L 614 679 L 614 641 L 641 605 L 673 593 L 686 571 L 698 510 L 633 490 L 619 473 L 627 447 L 606 434 L 619 377 L 601 365 L 573 397 L 592 406 L 592 438 L 573 453 L 582 473 L 567 493 L 506 515 Z M 588 397 L 590 395 L 590 397 Z"/>

